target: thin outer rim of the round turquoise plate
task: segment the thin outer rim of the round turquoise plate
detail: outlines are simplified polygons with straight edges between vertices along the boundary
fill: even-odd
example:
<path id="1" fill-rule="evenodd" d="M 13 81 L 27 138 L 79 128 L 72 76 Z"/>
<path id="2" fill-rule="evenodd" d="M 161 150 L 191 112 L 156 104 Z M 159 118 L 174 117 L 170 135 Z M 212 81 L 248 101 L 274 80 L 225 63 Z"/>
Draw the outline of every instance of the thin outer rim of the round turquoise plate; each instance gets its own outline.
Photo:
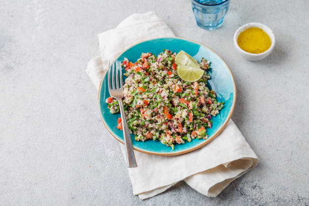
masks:
<path id="1" fill-rule="evenodd" d="M 199 42 L 196 42 L 196 41 L 193 41 L 193 40 L 190 40 L 190 39 L 187 39 L 187 38 L 182 38 L 182 37 L 176 37 L 176 36 L 162 36 L 162 37 L 157 37 L 157 38 L 150 38 L 150 39 L 146 39 L 146 40 L 142 40 L 142 41 L 138 41 L 134 44 L 132 44 L 131 46 L 129 46 L 128 48 L 124 49 L 115 59 L 117 60 L 123 53 L 125 53 L 128 49 L 132 48 L 133 46 L 139 44 L 139 43 L 142 43 L 142 42 L 145 42 L 145 41 L 151 41 L 151 40 L 155 40 L 155 39 L 164 39 L 164 38 L 175 38 L 175 39 L 181 39 L 181 40 L 186 40 L 186 41 L 190 41 L 190 42 L 193 42 L 193 43 L 196 43 L 196 44 L 199 44 L 201 46 L 204 46 L 208 49 L 210 49 L 213 53 L 215 53 L 223 62 L 224 64 L 227 66 L 227 68 L 229 69 L 230 73 L 231 73 L 231 76 L 232 76 L 232 79 L 233 79 L 233 84 L 234 84 L 234 100 L 233 100 L 233 104 L 232 104 L 232 108 L 228 114 L 228 117 L 226 118 L 225 122 L 223 123 L 223 125 L 218 129 L 218 131 L 213 134 L 209 139 L 207 139 L 206 141 L 203 141 L 201 142 L 200 144 L 192 147 L 192 148 L 188 148 L 188 149 L 185 149 L 185 150 L 182 150 L 182 151 L 177 151 L 177 152 L 152 152 L 152 151 L 148 151 L 148 150 L 144 150 L 144 149 L 140 149 L 140 148 L 136 148 L 134 145 L 133 145 L 133 149 L 136 150 L 136 151 L 139 151 L 139 152 L 142 152 L 142 153 L 146 153 L 148 155 L 157 155 L 157 156 L 177 156 L 177 155 L 182 155 L 184 153 L 188 153 L 190 151 L 194 151 L 206 144 L 208 144 L 209 142 L 211 142 L 212 140 L 214 140 L 222 131 L 223 129 L 227 126 L 227 123 L 229 122 L 229 120 L 231 119 L 232 117 L 232 114 L 234 112 L 234 108 L 235 108 L 235 105 L 236 105 L 236 98 L 237 98 L 237 90 L 236 90 L 236 83 L 235 83 L 235 79 L 234 79 L 234 75 L 230 69 L 230 67 L 226 64 L 226 62 L 223 60 L 223 58 L 218 55 L 213 49 L 211 49 L 210 47 L 206 46 L 206 45 L 203 45 Z M 110 128 L 107 126 L 107 124 L 105 123 L 104 119 L 102 118 L 102 115 L 101 115 L 101 110 L 100 110 L 100 93 L 101 93 L 101 84 L 102 84 L 102 81 L 105 77 L 105 75 L 107 74 L 108 72 L 105 72 L 105 74 L 102 76 L 101 78 L 101 82 L 100 82 L 100 85 L 99 85 L 99 90 L 98 90 L 98 95 L 97 95 L 97 105 L 98 105 L 98 109 L 99 109 L 99 114 L 100 114 L 100 117 L 101 117 L 101 120 L 104 124 L 104 126 L 106 127 L 106 129 L 110 132 L 110 134 L 115 138 L 117 139 L 119 142 L 121 142 L 122 144 L 124 144 L 124 142 L 119 139 L 118 137 L 116 137 L 114 134 L 113 134 L 113 131 L 110 130 Z"/>

